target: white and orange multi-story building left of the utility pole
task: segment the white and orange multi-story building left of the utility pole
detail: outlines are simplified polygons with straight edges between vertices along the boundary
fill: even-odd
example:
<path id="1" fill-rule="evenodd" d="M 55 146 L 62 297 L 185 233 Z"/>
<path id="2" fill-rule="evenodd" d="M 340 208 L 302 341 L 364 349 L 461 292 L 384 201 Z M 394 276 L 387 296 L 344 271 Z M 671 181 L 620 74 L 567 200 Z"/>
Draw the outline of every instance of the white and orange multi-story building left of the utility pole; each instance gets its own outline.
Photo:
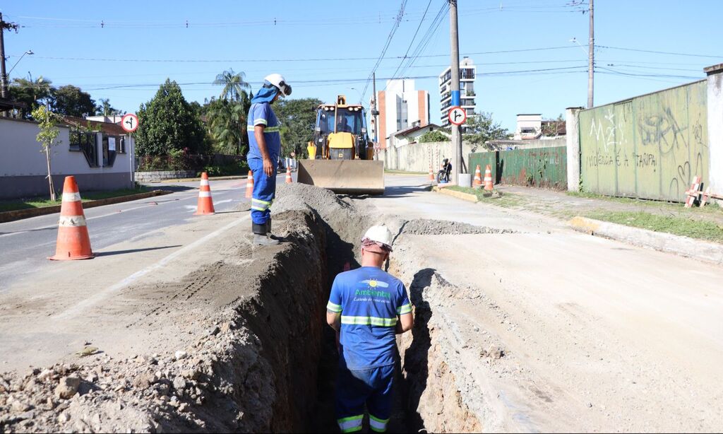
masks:
<path id="1" fill-rule="evenodd" d="M 385 149 L 390 135 L 408 127 L 429 124 L 429 92 L 415 90 L 414 80 L 389 80 L 385 90 L 377 92 L 379 126 L 369 122 L 372 137 Z"/>

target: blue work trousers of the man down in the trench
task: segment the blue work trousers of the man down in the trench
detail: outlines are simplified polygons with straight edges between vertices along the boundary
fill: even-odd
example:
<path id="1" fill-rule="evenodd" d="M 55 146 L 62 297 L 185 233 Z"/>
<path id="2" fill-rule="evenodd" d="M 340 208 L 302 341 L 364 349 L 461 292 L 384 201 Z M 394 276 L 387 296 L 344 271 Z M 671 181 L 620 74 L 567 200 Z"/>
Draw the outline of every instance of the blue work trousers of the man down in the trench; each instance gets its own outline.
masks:
<path id="1" fill-rule="evenodd" d="M 369 410 L 369 427 L 377 433 L 387 430 L 392 414 L 394 365 L 350 370 L 339 363 L 336 378 L 336 422 L 342 433 L 361 430 L 364 404 Z"/>

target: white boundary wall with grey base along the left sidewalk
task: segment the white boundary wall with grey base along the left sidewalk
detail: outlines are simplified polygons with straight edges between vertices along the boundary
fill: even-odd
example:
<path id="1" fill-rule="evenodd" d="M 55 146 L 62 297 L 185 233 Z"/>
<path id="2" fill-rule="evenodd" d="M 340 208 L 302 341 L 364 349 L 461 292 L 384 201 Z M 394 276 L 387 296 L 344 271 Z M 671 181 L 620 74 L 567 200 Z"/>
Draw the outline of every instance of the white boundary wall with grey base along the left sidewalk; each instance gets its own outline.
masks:
<path id="1" fill-rule="evenodd" d="M 134 143 L 126 137 L 126 153 L 116 153 L 113 166 L 103 167 L 102 134 L 98 134 L 99 167 L 90 167 L 81 151 L 69 150 L 68 127 L 59 127 L 59 145 L 51 153 L 51 171 L 57 190 L 65 176 L 74 175 L 80 192 L 117 190 L 133 187 L 132 156 Z M 46 157 L 41 153 L 38 124 L 17 119 L 0 118 L 0 199 L 48 195 Z M 118 145 L 116 145 L 118 146 Z"/>

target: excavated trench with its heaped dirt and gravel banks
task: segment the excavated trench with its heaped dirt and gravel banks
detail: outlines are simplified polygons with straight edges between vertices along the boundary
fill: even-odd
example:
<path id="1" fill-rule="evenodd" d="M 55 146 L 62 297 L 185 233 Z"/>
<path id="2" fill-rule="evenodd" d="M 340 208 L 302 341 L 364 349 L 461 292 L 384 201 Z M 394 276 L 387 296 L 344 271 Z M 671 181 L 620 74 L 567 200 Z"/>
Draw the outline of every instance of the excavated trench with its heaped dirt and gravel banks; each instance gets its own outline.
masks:
<path id="1" fill-rule="evenodd" d="M 181 356 L 166 351 L 124 361 L 99 357 L 82 366 L 57 365 L 50 373 L 0 376 L 0 388 L 11 391 L 7 398 L 0 394 L 0 433 L 337 432 L 338 354 L 334 333 L 325 324 L 325 305 L 333 278 L 359 266 L 364 231 L 383 222 L 396 233 L 395 243 L 405 235 L 504 232 L 364 211 L 328 190 L 282 185 L 273 215 L 275 232 L 285 242 L 261 250 L 244 240 L 231 243 L 223 263 L 157 289 L 173 294 L 163 310 L 206 315 L 199 321 L 207 328 L 205 336 L 189 342 Z M 481 430 L 480 412 L 461 395 L 464 373 L 452 367 L 429 302 L 435 294 L 454 292 L 453 286 L 431 268 L 411 270 L 399 258 L 393 257 L 387 268 L 408 287 L 416 317 L 411 333 L 398 338 L 401 387 L 390 432 Z M 54 401 L 64 375 L 80 378 L 85 393 Z M 48 407 L 38 404 L 32 422 L 12 413 L 13 402 L 46 398 Z"/>

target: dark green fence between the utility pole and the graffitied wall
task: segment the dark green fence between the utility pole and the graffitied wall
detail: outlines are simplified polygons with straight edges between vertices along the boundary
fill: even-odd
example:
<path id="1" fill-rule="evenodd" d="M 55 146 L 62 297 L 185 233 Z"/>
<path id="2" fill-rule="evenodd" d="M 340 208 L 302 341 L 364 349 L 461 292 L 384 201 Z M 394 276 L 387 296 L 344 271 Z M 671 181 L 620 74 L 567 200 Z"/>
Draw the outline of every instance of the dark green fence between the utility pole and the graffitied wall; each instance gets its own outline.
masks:
<path id="1" fill-rule="evenodd" d="M 565 190 L 568 187 L 568 154 L 565 146 L 500 150 L 469 154 L 470 172 L 489 164 L 495 184 L 526 185 Z"/>

